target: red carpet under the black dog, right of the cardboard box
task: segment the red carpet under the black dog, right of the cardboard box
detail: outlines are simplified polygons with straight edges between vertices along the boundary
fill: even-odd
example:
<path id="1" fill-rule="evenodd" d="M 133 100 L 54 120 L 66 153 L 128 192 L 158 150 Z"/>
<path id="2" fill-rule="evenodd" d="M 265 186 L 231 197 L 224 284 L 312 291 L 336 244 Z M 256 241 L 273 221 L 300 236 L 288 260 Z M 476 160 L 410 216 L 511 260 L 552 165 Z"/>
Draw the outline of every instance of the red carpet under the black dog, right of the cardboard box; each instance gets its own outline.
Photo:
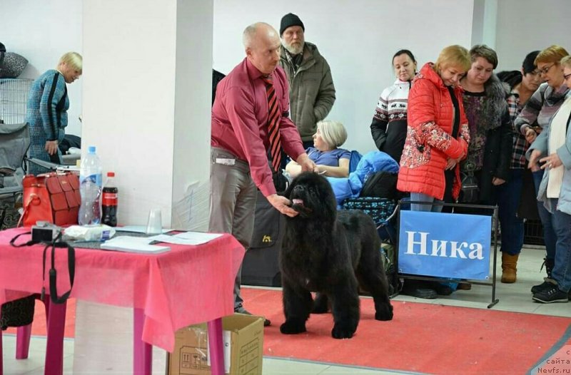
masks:
<path id="1" fill-rule="evenodd" d="M 331 314 L 311 315 L 308 332 L 284 335 L 281 291 L 243 288 L 243 297 L 249 311 L 271 319 L 264 356 L 430 374 L 525 374 L 560 339 L 571 344 L 569 318 L 393 301 L 393 320 L 378 322 L 370 298 L 361 301 L 353 339 L 330 337 Z"/>

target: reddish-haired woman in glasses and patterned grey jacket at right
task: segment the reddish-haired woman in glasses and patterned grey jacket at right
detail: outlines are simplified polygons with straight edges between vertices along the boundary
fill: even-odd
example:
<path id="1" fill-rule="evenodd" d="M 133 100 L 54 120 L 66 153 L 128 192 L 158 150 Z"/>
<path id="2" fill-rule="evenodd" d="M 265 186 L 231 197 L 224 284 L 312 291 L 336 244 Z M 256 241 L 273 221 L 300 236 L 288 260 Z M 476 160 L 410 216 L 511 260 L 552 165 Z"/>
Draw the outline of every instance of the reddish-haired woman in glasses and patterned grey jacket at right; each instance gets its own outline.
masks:
<path id="1" fill-rule="evenodd" d="M 550 123 L 551 118 L 559 110 L 569 88 L 563 78 L 561 59 L 569 56 L 569 53 L 562 46 L 550 46 L 541 51 L 535 58 L 535 65 L 540 71 L 545 83 L 533 93 L 529 101 L 519 116 L 515 119 L 515 128 L 519 129 L 528 143 L 533 143 L 537 135 L 542 133 Z M 529 151 L 529 150 L 528 150 Z M 544 169 L 541 168 L 541 161 L 536 159 L 530 163 L 530 170 L 533 175 L 535 185 L 535 196 L 543 178 Z M 551 279 L 552 269 L 555 263 L 555 243 L 557 237 L 552 223 L 552 216 L 545 209 L 541 202 L 537 202 L 537 211 L 540 215 L 543 227 L 543 240 L 545 242 L 545 270 L 547 278 Z M 532 292 L 537 291 L 537 285 L 532 288 Z"/>

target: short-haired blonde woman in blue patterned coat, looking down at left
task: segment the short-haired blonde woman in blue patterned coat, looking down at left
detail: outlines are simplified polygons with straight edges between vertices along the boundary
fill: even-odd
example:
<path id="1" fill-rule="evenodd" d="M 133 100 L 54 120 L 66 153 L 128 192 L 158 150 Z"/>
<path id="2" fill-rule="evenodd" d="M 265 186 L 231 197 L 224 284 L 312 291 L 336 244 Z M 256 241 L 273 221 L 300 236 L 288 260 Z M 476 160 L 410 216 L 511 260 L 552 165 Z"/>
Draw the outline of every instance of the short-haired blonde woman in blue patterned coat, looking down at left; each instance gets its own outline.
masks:
<path id="1" fill-rule="evenodd" d="M 64 140 L 69 98 L 66 83 L 81 76 L 83 59 L 76 52 L 65 53 L 56 69 L 50 69 L 32 83 L 26 122 L 30 127 L 30 157 L 61 164 L 58 145 Z M 46 168 L 29 163 L 29 173 L 38 175 Z"/>

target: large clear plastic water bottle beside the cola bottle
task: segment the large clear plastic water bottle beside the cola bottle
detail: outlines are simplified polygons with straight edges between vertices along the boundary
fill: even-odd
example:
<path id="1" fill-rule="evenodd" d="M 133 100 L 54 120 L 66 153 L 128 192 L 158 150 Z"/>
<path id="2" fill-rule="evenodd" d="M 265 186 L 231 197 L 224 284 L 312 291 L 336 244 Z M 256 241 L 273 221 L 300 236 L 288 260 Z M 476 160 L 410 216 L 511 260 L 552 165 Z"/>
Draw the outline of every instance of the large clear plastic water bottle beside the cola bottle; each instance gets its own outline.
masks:
<path id="1" fill-rule="evenodd" d="M 101 170 L 101 160 L 95 153 L 95 146 L 89 146 L 89 152 L 81 160 L 79 168 L 79 225 L 101 223 Z"/>

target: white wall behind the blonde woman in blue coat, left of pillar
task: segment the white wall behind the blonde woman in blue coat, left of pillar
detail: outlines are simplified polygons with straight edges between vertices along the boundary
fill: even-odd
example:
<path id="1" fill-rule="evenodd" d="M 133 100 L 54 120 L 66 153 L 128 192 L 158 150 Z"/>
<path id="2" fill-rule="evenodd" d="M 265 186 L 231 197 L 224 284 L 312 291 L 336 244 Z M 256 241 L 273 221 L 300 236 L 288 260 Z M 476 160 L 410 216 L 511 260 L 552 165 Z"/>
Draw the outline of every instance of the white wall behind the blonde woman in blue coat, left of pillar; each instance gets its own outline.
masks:
<path id="1" fill-rule="evenodd" d="M 81 9 L 78 0 L 0 0 L 0 41 L 6 51 L 29 61 L 20 78 L 35 79 L 55 69 L 66 52 L 82 53 Z M 69 134 L 81 135 L 82 81 L 83 77 L 68 85 Z"/>

